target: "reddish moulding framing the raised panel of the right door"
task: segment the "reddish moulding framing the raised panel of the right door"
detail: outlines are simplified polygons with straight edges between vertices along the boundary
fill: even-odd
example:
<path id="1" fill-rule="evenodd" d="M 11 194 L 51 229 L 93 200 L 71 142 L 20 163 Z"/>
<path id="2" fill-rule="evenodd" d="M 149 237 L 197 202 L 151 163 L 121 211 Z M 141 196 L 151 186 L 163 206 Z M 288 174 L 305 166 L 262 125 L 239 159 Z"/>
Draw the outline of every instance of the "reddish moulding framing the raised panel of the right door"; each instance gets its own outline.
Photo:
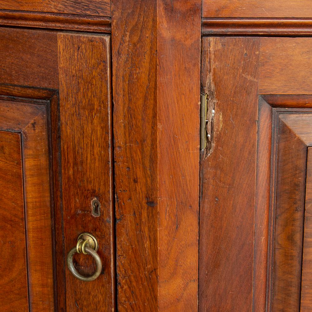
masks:
<path id="1" fill-rule="evenodd" d="M 253 311 L 271 311 L 279 135 L 277 122 L 280 114 L 294 113 L 311 114 L 312 95 L 259 95 Z M 307 144 L 307 149 L 309 147 L 310 144 Z M 268 209 L 268 213 L 261 207 Z"/>

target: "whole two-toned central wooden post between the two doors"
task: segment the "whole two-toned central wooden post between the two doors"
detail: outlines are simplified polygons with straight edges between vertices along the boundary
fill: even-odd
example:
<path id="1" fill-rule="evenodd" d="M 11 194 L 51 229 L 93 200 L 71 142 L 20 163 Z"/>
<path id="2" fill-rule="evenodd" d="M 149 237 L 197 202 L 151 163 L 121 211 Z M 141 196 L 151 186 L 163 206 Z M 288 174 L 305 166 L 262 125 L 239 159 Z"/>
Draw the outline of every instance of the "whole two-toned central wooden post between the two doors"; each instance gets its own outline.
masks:
<path id="1" fill-rule="evenodd" d="M 119 311 L 197 311 L 200 11 L 112 2 Z"/>

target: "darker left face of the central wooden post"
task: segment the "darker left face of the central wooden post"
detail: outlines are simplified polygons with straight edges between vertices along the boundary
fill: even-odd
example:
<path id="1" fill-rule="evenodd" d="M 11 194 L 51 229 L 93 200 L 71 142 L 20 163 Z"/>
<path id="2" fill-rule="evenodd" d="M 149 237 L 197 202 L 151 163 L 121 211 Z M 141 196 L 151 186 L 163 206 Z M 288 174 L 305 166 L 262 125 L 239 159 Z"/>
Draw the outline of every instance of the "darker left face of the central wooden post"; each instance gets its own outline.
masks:
<path id="1" fill-rule="evenodd" d="M 112 1 L 118 311 L 158 306 L 156 10 Z"/>

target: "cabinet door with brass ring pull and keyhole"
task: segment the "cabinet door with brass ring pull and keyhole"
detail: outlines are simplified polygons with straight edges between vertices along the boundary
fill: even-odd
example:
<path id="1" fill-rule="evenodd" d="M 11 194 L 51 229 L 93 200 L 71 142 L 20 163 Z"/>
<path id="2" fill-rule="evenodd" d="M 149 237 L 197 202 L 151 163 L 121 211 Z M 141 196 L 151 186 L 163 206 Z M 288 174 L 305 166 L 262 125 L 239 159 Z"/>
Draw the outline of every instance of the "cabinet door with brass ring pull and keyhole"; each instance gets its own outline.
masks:
<path id="1" fill-rule="evenodd" d="M 2 28 L 0 54 L 0 311 L 112 311 L 110 36 Z"/>

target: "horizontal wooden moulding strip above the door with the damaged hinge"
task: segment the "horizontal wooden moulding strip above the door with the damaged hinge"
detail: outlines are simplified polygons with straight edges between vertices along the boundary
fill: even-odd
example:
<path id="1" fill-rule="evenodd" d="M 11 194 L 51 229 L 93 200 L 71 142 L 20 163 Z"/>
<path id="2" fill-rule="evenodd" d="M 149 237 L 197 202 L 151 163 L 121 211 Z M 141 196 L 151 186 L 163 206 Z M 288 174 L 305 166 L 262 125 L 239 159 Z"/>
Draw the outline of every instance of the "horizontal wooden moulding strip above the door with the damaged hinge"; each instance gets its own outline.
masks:
<path id="1" fill-rule="evenodd" d="M 310 36 L 312 18 L 202 18 L 202 35 Z"/>

